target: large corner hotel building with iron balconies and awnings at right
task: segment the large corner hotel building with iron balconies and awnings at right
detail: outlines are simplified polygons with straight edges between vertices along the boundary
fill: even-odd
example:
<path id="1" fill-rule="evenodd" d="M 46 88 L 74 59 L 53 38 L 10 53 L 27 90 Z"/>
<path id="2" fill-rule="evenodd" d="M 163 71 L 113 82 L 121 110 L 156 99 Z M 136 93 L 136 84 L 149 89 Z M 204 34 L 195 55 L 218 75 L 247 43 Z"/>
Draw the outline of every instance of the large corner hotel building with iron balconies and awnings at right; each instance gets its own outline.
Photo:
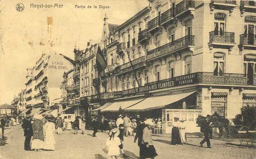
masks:
<path id="1" fill-rule="evenodd" d="M 102 97 L 111 104 L 97 110 L 121 106 L 131 115 L 161 116 L 170 133 L 174 117 L 196 132 L 199 114 L 232 119 L 255 108 L 254 1 L 149 1 L 151 7 L 112 31 L 104 18 L 108 93 Z"/>

